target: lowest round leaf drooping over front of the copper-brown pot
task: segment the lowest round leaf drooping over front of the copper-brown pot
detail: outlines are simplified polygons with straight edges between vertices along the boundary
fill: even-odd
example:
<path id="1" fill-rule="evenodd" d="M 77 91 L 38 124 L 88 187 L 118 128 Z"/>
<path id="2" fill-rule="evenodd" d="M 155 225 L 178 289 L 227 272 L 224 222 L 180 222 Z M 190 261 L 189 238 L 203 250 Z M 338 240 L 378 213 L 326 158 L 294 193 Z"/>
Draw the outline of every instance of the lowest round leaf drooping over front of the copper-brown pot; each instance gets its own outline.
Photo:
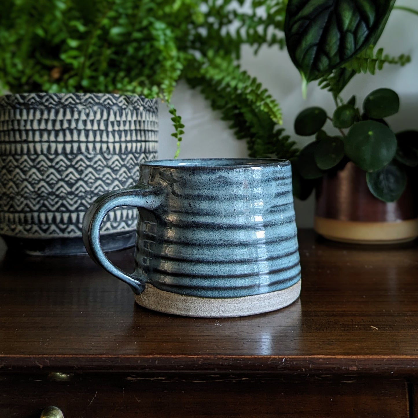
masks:
<path id="1" fill-rule="evenodd" d="M 369 190 L 377 199 L 384 202 L 394 202 L 399 199 L 408 181 L 405 171 L 395 164 L 367 173 L 366 178 Z"/>

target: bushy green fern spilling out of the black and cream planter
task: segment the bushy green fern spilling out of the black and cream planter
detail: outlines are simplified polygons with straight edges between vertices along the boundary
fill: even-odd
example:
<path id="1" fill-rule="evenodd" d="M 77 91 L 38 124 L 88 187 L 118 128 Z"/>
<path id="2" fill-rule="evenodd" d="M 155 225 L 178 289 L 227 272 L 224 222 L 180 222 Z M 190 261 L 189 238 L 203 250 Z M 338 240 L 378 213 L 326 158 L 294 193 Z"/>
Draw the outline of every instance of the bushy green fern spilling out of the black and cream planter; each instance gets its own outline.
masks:
<path id="1" fill-rule="evenodd" d="M 287 0 L 3 0 L 0 89 L 140 94 L 170 102 L 179 79 L 202 90 L 250 155 L 296 153 L 278 103 L 240 69 L 241 47 L 283 48 Z M 169 104 L 180 142 L 184 124 Z"/>

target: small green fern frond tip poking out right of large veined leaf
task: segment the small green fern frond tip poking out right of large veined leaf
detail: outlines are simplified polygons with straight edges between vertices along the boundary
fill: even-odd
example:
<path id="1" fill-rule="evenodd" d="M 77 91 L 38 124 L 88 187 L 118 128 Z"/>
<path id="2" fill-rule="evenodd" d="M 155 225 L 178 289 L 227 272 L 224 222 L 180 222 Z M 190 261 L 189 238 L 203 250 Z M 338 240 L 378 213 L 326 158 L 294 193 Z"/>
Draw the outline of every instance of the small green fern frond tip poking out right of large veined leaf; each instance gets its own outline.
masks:
<path id="1" fill-rule="evenodd" d="M 356 71 L 357 74 L 370 73 L 374 75 L 376 74 L 376 69 L 381 70 L 385 64 L 398 64 L 404 66 L 410 61 L 411 57 L 409 55 L 401 54 L 397 57 L 389 56 L 388 54 L 384 54 L 383 48 L 379 48 L 376 53 L 374 53 L 374 46 L 370 45 L 343 66 L 348 70 Z"/>

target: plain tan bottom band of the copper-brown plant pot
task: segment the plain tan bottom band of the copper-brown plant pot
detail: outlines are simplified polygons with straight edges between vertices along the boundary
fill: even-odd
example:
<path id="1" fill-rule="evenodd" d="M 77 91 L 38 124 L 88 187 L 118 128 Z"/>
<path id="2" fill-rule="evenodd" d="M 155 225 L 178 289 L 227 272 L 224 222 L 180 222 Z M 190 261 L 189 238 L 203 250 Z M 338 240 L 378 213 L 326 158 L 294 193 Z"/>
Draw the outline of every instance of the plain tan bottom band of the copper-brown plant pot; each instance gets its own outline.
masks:
<path id="1" fill-rule="evenodd" d="M 399 222 L 354 222 L 315 217 L 315 231 L 333 241 L 393 244 L 418 237 L 418 219 Z"/>

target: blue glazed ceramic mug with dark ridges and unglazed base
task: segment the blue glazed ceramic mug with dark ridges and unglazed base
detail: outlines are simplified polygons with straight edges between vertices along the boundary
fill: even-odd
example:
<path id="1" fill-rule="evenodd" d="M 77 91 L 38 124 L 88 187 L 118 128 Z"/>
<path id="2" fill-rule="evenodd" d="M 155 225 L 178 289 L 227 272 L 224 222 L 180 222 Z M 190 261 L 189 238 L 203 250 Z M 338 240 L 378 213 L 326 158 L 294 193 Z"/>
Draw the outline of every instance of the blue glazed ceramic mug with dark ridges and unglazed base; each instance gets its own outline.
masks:
<path id="1" fill-rule="evenodd" d="M 100 224 L 118 206 L 138 207 L 132 274 L 100 247 Z M 83 239 L 93 260 L 128 283 L 139 305 L 156 311 L 244 316 L 282 308 L 300 294 L 289 161 L 141 163 L 136 186 L 90 206 Z"/>

